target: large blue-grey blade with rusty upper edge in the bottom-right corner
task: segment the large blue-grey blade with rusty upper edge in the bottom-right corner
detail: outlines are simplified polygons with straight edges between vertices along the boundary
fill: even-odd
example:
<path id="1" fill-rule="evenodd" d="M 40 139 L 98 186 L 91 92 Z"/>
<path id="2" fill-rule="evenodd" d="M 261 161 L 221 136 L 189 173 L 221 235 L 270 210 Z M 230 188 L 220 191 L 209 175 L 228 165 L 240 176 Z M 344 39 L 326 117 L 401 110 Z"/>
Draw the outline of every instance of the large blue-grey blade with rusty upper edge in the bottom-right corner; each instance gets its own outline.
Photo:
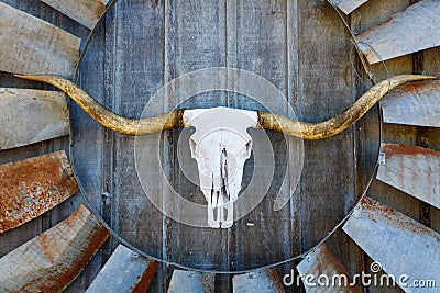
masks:
<path id="1" fill-rule="evenodd" d="M 377 262 L 376 272 L 382 268 L 395 277 L 405 292 L 420 292 L 420 281 L 440 284 L 440 235 L 432 229 L 364 198 L 343 230 Z"/>

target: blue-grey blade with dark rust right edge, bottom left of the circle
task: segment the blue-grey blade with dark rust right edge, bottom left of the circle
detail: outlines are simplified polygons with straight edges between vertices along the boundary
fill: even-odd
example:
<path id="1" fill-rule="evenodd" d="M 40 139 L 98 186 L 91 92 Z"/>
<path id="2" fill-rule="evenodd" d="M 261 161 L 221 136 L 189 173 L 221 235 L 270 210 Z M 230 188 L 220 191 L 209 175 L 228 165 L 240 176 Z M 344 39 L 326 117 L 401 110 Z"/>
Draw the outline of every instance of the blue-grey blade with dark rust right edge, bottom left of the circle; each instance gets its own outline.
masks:
<path id="1" fill-rule="evenodd" d="M 119 245 L 86 292 L 146 292 L 157 266 Z"/>

